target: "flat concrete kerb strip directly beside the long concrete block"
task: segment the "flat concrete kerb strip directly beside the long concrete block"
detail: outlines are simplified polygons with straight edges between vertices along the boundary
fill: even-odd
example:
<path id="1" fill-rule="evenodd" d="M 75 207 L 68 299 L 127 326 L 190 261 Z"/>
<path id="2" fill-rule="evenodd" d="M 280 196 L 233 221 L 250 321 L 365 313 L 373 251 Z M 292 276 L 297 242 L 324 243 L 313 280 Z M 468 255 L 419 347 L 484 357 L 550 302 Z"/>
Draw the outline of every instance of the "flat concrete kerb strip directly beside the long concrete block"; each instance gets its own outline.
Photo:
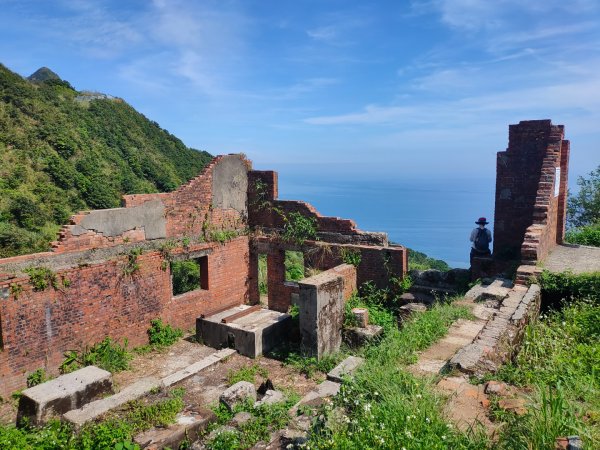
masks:
<path id="1" fill-rule="evenodd" d="M 138 398 L 149 394 L 152 390 L 159 389 L 161 387 L 162 383 L 158 378 L 142 378 L 127 386 L 115 395 L 93 401 L 83 405 L 79 409 L 68 411 L 63 415 L 63 418 L 67 422 L 72 423 L 76 428 L 79 428 L 87 422 L 106 414 L 111 409 L 118 408 L 119 406 L 124 405 L 132 400 L 137 400 Z"/>

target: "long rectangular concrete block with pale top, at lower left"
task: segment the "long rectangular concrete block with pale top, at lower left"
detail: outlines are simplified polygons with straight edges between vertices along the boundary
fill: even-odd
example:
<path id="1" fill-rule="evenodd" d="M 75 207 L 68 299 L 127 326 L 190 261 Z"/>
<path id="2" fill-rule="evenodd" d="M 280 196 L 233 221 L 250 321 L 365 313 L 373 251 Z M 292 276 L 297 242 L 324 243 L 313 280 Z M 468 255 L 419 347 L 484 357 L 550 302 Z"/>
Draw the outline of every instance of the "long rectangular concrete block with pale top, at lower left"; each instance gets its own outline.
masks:
<path id="1" fill-rule="evenodd" d="M 27 418 L 41 425 L 54 415 L 80 408 L 95 397 L 112 392 L 112 375 L 95 366 L 61 375 L 22 392 L 17 421 Z"/>

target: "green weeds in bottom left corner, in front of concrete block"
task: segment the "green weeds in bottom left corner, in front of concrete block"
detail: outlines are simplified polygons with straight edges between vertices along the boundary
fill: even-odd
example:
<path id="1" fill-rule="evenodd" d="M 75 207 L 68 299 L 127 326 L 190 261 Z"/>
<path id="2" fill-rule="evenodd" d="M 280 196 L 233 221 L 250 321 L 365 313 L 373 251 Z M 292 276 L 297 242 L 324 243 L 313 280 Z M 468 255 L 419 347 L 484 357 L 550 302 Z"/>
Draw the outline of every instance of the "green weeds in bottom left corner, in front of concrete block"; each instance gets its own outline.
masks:
<path id="1" fill-rule="evenodd" d="M 134 401 L 120 415 L 86 425 L 79 433 L 59 421 L 41 428 L 0 426 L 0 448 L 6 450 L 100 450 L 139 449 L 133 437 L 155 426 L 167 426 L 175 421 L 184 407 L 182 389 L 173 389 L 164 398 L 146 404 Z"/>

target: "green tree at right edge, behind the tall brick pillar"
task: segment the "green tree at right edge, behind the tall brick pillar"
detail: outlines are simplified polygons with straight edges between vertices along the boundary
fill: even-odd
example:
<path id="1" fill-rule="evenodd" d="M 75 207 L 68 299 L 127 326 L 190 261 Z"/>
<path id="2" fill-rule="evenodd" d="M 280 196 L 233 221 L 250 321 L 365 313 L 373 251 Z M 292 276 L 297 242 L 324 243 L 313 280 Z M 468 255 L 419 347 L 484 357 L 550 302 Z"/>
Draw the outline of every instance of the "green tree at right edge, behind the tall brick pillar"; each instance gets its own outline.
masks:
<path id="1" fill-rule="evenodd" d="M 588 178 L 577 179 L 579 192 L 569 195 L 567 219 L 570 226 L 585 227 L 600 223 L 600 166 Z"/>

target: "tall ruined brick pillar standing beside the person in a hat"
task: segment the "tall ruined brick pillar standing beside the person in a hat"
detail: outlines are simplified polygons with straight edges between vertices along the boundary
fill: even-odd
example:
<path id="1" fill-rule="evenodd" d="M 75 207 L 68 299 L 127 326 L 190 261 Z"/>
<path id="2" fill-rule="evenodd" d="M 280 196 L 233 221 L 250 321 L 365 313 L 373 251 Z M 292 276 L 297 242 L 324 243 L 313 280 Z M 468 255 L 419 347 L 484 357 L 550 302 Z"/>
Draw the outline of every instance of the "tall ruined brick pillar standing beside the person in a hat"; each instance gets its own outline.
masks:
<path id="1" fill-rule="evenodd" d="M 496 166 L 495 257 L 535 261 L 562 240 L 569 151 L 563 137 L 564 127 L 550 120 L 509 126 L 508 149 L 498 153 Z"/>

